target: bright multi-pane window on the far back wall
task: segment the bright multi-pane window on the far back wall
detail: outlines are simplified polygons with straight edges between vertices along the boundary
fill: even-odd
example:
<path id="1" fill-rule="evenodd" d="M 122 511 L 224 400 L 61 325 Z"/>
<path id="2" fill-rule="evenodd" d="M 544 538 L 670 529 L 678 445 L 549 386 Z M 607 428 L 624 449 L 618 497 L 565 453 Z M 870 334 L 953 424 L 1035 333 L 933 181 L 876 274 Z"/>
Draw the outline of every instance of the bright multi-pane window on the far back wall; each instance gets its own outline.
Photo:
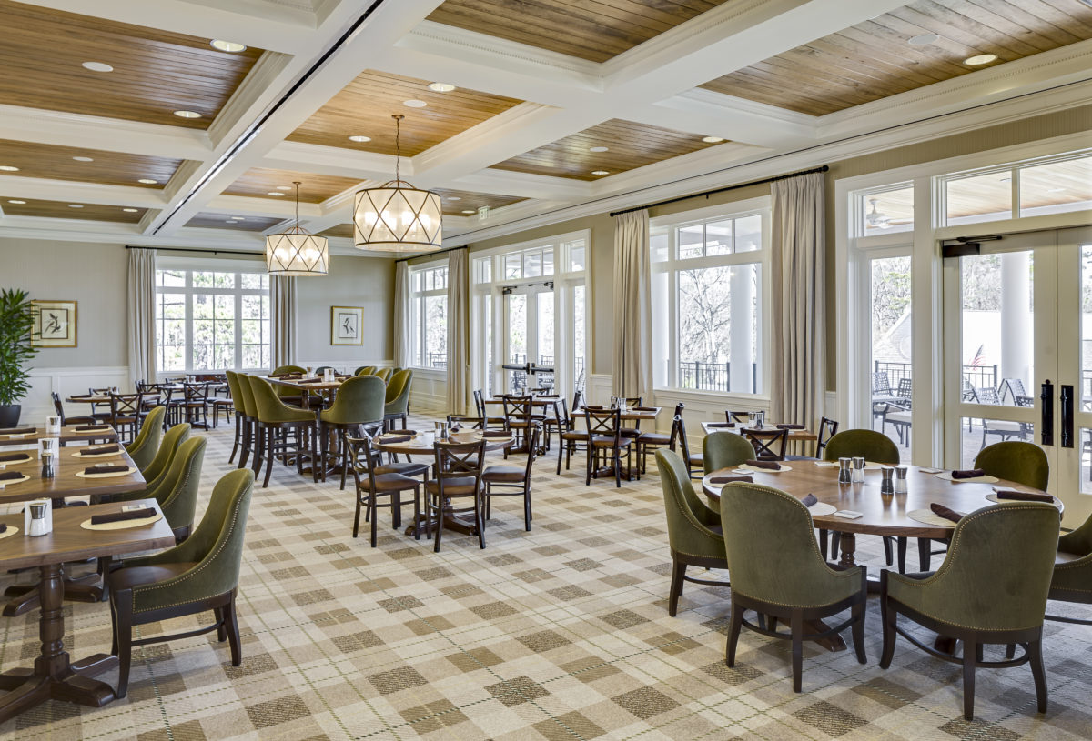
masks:
<path id="1" fill-rule="evenodd" d="M 159 372 L 270 367 L 269 276 L 251 271 L 156 270 Z"/>

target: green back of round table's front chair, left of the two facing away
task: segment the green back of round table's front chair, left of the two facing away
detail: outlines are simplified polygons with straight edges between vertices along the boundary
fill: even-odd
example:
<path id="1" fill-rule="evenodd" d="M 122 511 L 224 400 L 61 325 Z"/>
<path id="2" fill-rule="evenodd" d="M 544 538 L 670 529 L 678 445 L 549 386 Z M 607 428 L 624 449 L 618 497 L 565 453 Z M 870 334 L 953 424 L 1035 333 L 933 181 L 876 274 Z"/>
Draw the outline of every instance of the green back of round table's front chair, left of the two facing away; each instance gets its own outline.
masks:
<path id="1" fill-rule="evenodd" d="M 784 491 L 728 483 L 721 490 L 721 526 L 733 591 L 809 608 L 843 598 L 832 593 L 847 576 L 844 596 L 860 590 L 859 570 L 835 572 L 827 565 L 807 507 Z"/>

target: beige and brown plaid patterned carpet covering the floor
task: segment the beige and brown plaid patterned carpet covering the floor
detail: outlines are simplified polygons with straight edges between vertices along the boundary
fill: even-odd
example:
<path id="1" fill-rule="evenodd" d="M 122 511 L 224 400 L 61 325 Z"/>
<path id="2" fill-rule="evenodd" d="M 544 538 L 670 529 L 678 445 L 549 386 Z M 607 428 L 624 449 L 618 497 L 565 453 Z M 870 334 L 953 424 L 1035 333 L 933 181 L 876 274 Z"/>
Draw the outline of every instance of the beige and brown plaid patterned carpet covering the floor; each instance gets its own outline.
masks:
<path id="1" fill-rule="evenodd" d="M 230 468 L 230 431 L 222 426 L 209 439 L 205 492 Z M 658 476 L 650 470 L 620 489 L 605 480 L 589 488 L 579 466 L 555 476 L 554 455 L 535 466 L 530 533 L 521 500 L 498 500 L 486 550 L 474 537 L 447 533 L 440 553 L 424 538 L 393 530 L 387 512 L 378 548 L 364 535 L 354 540 L 348 491 L 274 467 L 270 488 L 254 490 L 250 509 L 241 667 L 230 666 L 227 645 L 214 634 L 135 648 L 127 698 L 97 709 L 49 702 L 0 726 L 0 738 L 1092 736 L 1088 626 L 1047 623 L 1045 716 L 1035 713 L 1026 667 L 978 672 L 974 722 L 962 719 L 959 667 L 901 642 L 891 669 L 879 669 L 875 599 L 865 666 L 852 650 L 805 646 L 804 692 L 794 694 L 788 643 L 745 631 L 736 668 L 728 669 L 727 589 L 687 585 L 679 615 L 667 615 Z M 880 540 L 862 538 L 859 547 L 878 570 Z M 0 586 L 26 578 L 5 575 Z M 64 610 L 73 657 L 108 650 L 105 605 Z M 37 614 L 0 618 L 0 669 L 33 660 L 36 621 Z"/>

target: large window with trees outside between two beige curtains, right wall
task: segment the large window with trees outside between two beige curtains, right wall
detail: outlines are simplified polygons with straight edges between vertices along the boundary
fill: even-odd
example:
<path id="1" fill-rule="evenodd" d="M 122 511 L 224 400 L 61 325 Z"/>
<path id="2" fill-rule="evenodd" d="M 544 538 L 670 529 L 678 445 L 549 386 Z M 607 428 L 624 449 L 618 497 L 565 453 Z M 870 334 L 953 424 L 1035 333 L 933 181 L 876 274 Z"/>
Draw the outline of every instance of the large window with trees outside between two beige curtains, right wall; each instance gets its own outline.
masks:
<path id="1" fill-rule="evenodd" d="M 768 199 L 655 219 L 653 378 L 657 387 L 763 393 Z"/>

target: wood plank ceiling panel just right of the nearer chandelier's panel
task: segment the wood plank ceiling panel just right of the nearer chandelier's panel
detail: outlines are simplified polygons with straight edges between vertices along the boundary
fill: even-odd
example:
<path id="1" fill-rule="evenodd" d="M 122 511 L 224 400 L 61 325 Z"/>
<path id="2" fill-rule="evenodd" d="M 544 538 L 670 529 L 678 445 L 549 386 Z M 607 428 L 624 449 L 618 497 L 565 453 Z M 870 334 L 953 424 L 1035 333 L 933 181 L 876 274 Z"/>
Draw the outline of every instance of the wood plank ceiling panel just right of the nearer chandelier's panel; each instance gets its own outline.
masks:
<path id="1" fill-rule="evenodd" d="M 612 119 L 531 152 L 494 165 L 501 170 L 597 180 L 593 171 L 610 175 L 697 152 L 715 143 L 698 134 Z M 605 146 L 607 152 L 591 152 Z"/>

